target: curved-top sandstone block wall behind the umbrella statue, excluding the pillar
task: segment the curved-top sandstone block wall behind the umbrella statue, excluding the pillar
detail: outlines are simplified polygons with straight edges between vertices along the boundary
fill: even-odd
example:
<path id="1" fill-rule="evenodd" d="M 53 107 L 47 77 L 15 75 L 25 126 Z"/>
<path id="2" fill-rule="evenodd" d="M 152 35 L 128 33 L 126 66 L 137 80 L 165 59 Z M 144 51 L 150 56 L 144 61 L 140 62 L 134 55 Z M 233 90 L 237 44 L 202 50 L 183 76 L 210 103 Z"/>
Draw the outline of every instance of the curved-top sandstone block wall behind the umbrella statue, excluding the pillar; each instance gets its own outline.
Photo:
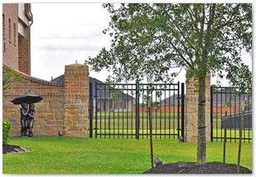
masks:
<path id="1" fill-rule="evenodd" d="M 56 84 L 42 79 L 23 75 L 20 83 L 13 84 L 12 89 L 2 95 L 2 118 L 12 123 L 12 136 L 20 135 L 21 105 L 12 104 L 12 99 L 24 93 L 35 93 L 43 97 L 35 103 L 35 135 L 54 135 L 63 130 L 63 84 Z"/>

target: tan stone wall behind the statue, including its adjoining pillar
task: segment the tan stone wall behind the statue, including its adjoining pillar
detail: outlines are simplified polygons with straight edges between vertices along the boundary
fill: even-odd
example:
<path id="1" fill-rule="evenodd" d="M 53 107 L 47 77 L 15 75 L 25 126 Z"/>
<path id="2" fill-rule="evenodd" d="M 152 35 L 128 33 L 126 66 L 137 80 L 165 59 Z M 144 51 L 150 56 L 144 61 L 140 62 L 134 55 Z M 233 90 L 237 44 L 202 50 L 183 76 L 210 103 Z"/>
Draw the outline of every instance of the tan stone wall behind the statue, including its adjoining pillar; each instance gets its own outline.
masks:
<path id="1" fill-rule="evenodd" d="M 81 71 L 80 68 L 85 68 L 86 71 Z M 17 70 L 16 72 L 24 79 L 13 84 L 12 89 L 2 95 L 2 117 L 12 123 L 12 136 L 20 135 L 21 130 L 21 105 L 12 104 L 12 99 L 24 93 L 35 93 L 44 98 L 35 103 L 35 135 L 58 135 L 58 131 L 63 131 L 67 136 L 86 137 L 89 98 L 87 66 L 72 66 L 72 70 L 66 72 L 65 84 L 37 79 Z"/>

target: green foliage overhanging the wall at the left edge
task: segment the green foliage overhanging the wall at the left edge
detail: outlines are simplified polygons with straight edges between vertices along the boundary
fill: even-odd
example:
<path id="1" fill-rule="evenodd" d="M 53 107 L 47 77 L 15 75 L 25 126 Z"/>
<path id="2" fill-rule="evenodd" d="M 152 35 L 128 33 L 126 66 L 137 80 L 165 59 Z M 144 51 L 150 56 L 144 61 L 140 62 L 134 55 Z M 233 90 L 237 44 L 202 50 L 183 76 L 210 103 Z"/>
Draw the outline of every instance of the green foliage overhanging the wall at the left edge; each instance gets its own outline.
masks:
<path id="1" fill-rule="evenodd" d="M 7 90 L 12 88 L 13 83 L 21 82 L 22 79 L 22 75 L 12 68 L 2 66 L 2 93 L 6 93 Z"/>

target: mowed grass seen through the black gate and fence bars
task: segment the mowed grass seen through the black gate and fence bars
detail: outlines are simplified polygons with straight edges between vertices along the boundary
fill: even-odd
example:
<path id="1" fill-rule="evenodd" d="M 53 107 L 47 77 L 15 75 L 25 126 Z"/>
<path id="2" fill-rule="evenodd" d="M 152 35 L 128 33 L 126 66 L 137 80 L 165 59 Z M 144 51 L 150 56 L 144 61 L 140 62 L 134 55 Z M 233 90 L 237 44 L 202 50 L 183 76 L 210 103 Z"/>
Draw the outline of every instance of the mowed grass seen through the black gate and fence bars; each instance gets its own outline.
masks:
<path id="1" fill-rule="evenodd" d="M 101 115 L 102 114 L 102 115 Z M 135 134 L 136 132 L 136 116 L 132 112 L 123 112 L 118 114 L 116 112 L 101 112 L 97 115 L 97 121 L 93 119 L 93 131 L 95 134 L 95 127 L 97 127 L 97 133 L 101 136 L 108 136 L 109 134 Z M 218 120 L 213 120 L 213 137 L 224 137 L 224 129 L 221 129 L 221 115 L 214 115 Z M 216 122 L 217 121 L 217 122 Z M 97 123 L 97 125 L 96 125 Z M 181 117 L 174 113 L 156 113 L 152 114 L 152 129 L 153 134 L 178 134 L 178 123 L 179 129 L 181 128 Z M 149 134 L 149 118 L 147 114 L 140 113 L 140 134 Z M 227 138 L 239 138 L 239 129 L 227 129 Z M 181 132 L 179 132 L 181 134 Z M 253 130 L 244 129 L 243 138 L 252 138 Z M 169 136 L 169 135 L 166 135 Z M 171 135 L 170 135 L 171 136 Z M 235 141 L 235 140 L 231 140 Z"/>

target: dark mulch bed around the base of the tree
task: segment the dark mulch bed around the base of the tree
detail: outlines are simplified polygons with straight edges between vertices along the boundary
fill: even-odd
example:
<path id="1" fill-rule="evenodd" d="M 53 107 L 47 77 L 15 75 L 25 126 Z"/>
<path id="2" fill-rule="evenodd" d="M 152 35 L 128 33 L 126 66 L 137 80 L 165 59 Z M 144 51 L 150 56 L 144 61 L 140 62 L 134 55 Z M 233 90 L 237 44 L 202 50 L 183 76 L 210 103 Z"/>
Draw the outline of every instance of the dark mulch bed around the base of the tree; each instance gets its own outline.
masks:
<path id="1" fill-rule="evenodd" d="M 143 174 L 237 174 L 237 165 L 217 161 L 201 166 L 195 162 L 177 162 L 156 166 Z M 252 174 L 252 171 L 240 166 L 240 174 Z"/>

